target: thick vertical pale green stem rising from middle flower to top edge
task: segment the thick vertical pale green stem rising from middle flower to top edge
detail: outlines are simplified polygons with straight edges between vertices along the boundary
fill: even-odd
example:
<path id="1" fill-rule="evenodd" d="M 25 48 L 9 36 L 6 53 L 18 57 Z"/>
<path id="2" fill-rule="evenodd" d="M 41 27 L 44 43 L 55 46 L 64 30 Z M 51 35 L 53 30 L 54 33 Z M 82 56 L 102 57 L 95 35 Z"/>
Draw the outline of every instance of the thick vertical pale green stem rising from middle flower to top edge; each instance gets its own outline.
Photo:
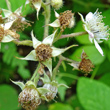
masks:
<path id="1" fill-rule="evenodd" d="M 48 4 L 50 3 L 50 0 L 46 0 L 46 4 L 43 4 L 43 8 L 45 10 L 44 12 L 44 16 L 45 16 L 45 27 L 44 27 L 44 38 L 48 36 L 49 33 L 49 26 L 47 24 L 49 24 L 50 22 L 50 5 Z M 44 6 L 45 5 L 45 6 Z"/>

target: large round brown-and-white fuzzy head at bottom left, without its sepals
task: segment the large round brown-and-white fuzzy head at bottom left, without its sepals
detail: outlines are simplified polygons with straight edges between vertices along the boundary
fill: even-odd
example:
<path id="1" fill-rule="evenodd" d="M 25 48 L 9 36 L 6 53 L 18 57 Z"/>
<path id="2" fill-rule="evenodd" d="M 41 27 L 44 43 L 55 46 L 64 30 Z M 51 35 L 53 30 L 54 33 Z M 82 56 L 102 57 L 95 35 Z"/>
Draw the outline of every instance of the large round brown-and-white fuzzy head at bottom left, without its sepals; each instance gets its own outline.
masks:
<path id="1" fill-rule="evenodd" d="M 35 108 L 41 103 L 38 91 L 33 87 L 25 87 L 25 89 L 19 94 L 18 101 L 26 110 L 35 110 Z"/>

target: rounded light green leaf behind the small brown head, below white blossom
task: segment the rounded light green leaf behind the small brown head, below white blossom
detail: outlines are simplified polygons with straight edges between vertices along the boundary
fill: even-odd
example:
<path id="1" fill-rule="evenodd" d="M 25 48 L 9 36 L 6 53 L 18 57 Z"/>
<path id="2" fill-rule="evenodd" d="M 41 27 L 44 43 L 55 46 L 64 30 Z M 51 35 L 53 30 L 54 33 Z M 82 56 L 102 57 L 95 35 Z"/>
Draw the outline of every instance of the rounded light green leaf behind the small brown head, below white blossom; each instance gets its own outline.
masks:
<path id="1" fill-rule="evenodd" d="M 105 57 L 106 57 L 105 52 L 104 52 L 104 56 L 101 56 L 101 54 L 98 52 L 95 46 L 90 46 L 90 45 L 81 46 L 70 56 L 70 58 L 75 61 L 81 61 L 81 53 L 83 49 L 93 64 L 98 65 L 98 64 L 101 64 L 105 60 Z"/>

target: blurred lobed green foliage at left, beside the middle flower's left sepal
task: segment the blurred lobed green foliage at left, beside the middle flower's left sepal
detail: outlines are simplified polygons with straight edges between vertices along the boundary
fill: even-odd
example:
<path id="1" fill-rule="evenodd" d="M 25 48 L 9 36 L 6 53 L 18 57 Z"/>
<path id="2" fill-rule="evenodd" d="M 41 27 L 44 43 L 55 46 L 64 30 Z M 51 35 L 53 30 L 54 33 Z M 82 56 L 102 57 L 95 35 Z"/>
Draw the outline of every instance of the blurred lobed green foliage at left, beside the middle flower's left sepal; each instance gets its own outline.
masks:
<path id="1" fill-rule="evenodd" d="M 17 72 L 23 79 L 27 79 L 30 77 L 30 72 L 25 67 L 27 66 L 27 61 L 16 59 L 14 56 L 21 57 L 17 53 L 17 48 L 14 43 L 2 44 L 1 52 L 3 53 L 3 62 L 7 64 L 7 66 L 11 68 L 16 68 Z"/>

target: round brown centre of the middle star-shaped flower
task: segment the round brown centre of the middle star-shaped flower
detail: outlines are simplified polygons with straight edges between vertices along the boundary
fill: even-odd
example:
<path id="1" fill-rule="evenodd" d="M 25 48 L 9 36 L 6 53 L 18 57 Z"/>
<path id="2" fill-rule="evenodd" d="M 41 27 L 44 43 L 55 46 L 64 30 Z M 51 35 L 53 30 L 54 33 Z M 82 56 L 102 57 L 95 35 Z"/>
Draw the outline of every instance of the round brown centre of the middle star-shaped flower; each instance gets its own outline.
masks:
<path id="1" fill-rule="evenodd" d="M 39 61 L 45 61 L 52 57 L 52 49 L 49 45 L 41 44 L 36 49 L 37 58 Z"/>

